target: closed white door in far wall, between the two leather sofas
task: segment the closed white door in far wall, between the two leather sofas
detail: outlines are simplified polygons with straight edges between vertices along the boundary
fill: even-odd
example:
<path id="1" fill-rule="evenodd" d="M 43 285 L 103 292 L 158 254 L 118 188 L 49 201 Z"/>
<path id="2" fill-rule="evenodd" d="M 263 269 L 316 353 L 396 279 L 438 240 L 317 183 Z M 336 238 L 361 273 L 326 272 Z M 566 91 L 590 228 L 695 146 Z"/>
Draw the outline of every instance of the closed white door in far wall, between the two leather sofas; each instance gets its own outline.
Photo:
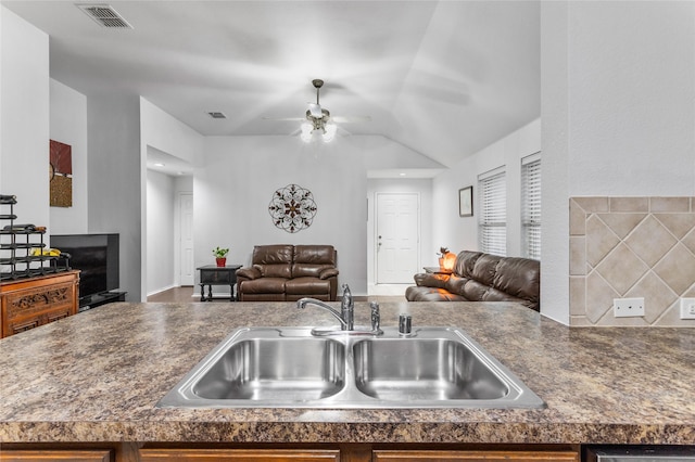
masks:
<path id="1" fill-rule="evenodd" d="M 407 284 L 419 268 L 420 197 L 377 193 L 377 284 Z"/>

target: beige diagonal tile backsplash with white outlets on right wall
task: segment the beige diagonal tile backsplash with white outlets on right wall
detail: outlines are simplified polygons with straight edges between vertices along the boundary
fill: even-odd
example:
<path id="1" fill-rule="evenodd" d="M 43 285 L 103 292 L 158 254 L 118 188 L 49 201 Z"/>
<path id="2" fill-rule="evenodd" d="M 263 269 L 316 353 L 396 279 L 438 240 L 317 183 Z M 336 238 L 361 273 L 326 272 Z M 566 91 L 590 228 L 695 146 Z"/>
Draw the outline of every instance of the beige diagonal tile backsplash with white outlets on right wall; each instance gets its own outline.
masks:
<path id="1" fill-rule="evenodd" d="M 692 326 L 695 197 L 571 197 L 570 325 Z M 645 316 L 615 318 L 612 299 L 644 297 Z"/>

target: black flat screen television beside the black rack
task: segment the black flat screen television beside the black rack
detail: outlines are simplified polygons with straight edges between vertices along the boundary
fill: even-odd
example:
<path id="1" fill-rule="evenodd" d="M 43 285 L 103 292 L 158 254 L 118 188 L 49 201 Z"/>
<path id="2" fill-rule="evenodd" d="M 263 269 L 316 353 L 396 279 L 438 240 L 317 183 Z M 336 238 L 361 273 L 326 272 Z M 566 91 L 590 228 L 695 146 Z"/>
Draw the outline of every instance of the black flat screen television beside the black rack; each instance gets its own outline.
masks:
<path id="1" fill-rule="evenodd" d="M 52 234 L 51 247 L 71 255 L 79 270 L 79 299 L 119 288 L 118 234 Z"/>

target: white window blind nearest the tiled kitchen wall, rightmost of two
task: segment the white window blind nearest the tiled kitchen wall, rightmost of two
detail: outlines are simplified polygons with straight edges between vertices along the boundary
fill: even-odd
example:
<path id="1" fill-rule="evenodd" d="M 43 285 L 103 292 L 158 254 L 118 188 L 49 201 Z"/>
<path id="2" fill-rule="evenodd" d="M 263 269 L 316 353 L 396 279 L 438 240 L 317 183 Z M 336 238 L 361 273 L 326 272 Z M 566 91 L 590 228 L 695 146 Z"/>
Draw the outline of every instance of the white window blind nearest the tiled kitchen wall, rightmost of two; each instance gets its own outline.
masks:
<path id="1" fill-rule="evenodd" d="M 521 230 L 525 256 L 541 259 L 541 156 L 521 161 Z"/>

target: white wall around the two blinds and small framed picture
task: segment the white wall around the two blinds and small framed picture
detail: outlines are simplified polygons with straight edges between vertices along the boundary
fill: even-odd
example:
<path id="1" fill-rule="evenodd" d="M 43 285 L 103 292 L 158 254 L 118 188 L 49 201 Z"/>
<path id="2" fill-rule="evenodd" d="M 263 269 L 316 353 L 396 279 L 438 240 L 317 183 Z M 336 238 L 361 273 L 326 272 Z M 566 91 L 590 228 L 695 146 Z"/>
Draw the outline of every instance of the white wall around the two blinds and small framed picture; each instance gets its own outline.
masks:
<path id="1" fill-rule="evenodd" d="M 478 176 L 504 166 L 507 182 L 507 256 L 520 256 L 521 158 L 539 151 L 541 120 L 534 120 L 437 176 L 432 184 L 434 252 L 441 246 L 454 253 L 478 249 Z M 473 187 L 473 216 L 460 217 L 458 190 L 469 185 Z"/>

